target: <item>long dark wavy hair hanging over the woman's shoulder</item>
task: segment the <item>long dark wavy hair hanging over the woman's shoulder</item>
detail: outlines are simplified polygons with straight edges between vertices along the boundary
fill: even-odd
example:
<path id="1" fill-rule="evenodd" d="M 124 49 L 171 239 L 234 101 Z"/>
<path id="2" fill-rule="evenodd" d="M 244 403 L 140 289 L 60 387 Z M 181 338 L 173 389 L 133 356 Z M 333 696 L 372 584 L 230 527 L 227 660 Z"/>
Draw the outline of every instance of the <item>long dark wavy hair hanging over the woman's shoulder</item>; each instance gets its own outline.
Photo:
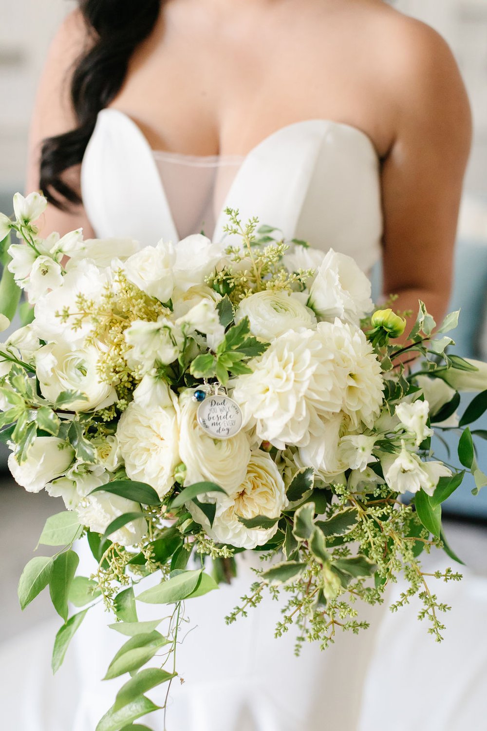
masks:
<path id="1" fill-rule="evenodd" d="M 40 188 L 61 211 L 82 201 L 63 180 L 69 167 L 80 164 L 93 134 L 96 115 L 118 94 L 129 60 L 150 34 L 164 0 L 79 0 L 91 44 L 78 58 L 71 81 L 77 126 L 47 137 L 42 143 Z"/>

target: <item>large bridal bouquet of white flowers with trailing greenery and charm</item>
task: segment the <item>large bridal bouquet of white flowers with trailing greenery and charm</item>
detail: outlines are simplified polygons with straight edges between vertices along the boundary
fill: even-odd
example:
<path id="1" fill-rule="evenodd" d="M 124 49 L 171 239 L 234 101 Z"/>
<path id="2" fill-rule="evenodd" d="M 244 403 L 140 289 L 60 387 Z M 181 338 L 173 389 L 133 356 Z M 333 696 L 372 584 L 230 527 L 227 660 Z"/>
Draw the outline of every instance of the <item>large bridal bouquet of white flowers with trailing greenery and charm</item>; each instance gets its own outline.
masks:
<path id="1" fill-rule="evenodd" d="M 141 248 L 80 230 L 42 239 L 45 205 L 17 194 L 15 220 L 0 216 L 4 327 L 19 288 L 28 298 L 26 324 L 0 346 L 0 439 L 19 485 L 67 509 L 39 539 L 58 552 L 29 561 L 18 589 L 24 608 L 49 586 L 64 623 L 53 670 L 97 602 L 126 636 L 106 678 L 131 677 L 97 731 L 160 708 L 146 692 L 177 674 L 186 600 L 231 580 L 242 550 L 262 566 L 229 623 L 282 592 L 276 636 L 296 623 L 296 651 L 326 648 L 337 629 L 367 628 L 356 599 L 382 602 L 402 572 L 409 588 L 391 608 L 419 594 L 440 640 L 448 607 L 420 554 L 457 560 L 442 502 L 467 470 L 487 484 L 468 426 L 485 392 L 456 414 L 459 390 L 487 388 L 486 366 L 450 354 L 458 313 L 437 327 L 420 303 L 394 344 L 405 319 L 374 311 L 350 257 L 285 243 L 237 211 L 229 245 L 194 235 Z M 433 427 L 457 430 L 464 470 L 434 458 Z M 91 576 L 77 575 L 77 539 L 96 558 Z M 169 605 L 169 618 L 138 621 L 143 603 Z"/>

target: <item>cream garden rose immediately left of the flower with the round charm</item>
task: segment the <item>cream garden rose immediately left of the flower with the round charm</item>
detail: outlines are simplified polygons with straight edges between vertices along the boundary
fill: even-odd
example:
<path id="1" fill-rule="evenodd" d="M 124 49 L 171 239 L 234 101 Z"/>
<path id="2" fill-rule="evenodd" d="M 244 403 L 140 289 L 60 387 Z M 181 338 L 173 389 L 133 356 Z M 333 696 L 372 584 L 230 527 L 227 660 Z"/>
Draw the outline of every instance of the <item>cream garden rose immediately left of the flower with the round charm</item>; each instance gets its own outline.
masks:
<path id="1" fill-rule="evenodd" d="M 166 387 L 166 406 L 147 408 L 132 401 L 117 428 L 126 473 L 131 480 L 147 482 L 161 498 L 172 488 L 180 463 L 176 408 L 175 395 Z"/>

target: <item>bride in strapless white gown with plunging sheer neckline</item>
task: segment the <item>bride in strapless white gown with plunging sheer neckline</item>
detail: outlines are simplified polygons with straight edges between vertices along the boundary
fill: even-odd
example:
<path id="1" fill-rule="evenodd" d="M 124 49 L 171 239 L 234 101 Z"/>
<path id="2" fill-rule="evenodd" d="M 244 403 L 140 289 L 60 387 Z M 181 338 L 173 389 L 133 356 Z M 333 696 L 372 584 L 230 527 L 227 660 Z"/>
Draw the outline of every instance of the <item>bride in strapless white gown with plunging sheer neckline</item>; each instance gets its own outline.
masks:
<path id="1" fill-rule="evenodd" d="M 364 271 L 382 259 L 399 309 L 421 299 L 441 317 L 471 119 L 429 26 L 382 0 L 79 6 L 53 42 L 31 127 L 27 187 L 49 197 L 46 232 L 221 240 L 229 205 Z M 373 627 L 296 660 L 293 637 L 272 639 L 276 602 L 224 625 L 252 580 L 240 569 L 191 607 L 168 729 L 356 731 Z M 93 731 L 114 694 L 100 682 L 118 649 L 103 619 L 88 615 L 61 670 L 71 731 Z M 66 731 L 42 683 L 26 730 Z"/>

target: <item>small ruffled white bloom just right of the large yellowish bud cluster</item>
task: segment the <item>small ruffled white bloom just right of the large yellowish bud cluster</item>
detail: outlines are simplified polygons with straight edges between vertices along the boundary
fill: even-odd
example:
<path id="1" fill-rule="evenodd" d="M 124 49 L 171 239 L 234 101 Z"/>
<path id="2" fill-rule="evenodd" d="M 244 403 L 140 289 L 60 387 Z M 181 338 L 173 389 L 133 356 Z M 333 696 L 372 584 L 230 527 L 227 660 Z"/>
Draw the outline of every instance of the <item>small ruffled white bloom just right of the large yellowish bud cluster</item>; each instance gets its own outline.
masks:
<path id="1" fill-rule="evenodd" d="M 183 349 L 184 337 L 178 325 L 161 315 L 156 322 L 135 320 L 124 333 L 131 348 L 126 352 L 129 368 L 145 374 L 156 361 L 169 365 Z"/>

